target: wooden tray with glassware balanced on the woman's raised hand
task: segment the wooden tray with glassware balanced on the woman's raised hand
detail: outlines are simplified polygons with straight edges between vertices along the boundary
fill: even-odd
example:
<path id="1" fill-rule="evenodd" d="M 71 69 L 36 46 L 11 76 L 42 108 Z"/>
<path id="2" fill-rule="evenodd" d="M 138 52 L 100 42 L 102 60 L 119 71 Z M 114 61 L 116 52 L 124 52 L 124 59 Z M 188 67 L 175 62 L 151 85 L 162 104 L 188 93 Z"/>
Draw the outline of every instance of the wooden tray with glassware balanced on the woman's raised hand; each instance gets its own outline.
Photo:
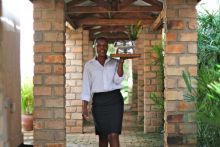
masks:
<path id="1" fill-rule="evenodd" d="M 117 41 L 114 43 L 116 53 L 111 54 L 111 57 L 120 57 L 124 59 L 139 58 L 141 54 L 136 53 L 134 41 Z"/>

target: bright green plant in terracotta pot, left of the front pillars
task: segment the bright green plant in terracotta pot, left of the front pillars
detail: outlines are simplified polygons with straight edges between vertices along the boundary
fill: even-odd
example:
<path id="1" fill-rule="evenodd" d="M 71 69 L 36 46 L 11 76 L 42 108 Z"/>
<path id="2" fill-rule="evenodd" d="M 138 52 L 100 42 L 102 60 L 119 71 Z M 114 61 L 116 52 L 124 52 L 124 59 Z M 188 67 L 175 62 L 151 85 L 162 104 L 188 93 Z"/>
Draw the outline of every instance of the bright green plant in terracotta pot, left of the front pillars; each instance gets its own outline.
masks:
<path id="1" fill-rule="evenodd" d="M 33 110 L 34 96 L 33 83 L 28 81 L 21 87 L 21 112 L 22 112 L 22 129 L 24 131 L 33 130 Z"/>

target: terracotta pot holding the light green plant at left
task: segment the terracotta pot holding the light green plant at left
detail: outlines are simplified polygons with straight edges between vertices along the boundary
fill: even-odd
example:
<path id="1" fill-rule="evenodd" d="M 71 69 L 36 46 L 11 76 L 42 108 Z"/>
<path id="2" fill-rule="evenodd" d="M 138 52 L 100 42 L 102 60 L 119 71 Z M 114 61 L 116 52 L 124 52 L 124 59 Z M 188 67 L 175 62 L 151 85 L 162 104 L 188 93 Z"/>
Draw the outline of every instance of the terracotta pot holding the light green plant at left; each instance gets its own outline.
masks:
<path id="1" fill-rule="evenodd" d="M 21 115 L 21 125 L 24 131 L 33 130 L 33 115 L 32 114 L 22 114 Z"/>

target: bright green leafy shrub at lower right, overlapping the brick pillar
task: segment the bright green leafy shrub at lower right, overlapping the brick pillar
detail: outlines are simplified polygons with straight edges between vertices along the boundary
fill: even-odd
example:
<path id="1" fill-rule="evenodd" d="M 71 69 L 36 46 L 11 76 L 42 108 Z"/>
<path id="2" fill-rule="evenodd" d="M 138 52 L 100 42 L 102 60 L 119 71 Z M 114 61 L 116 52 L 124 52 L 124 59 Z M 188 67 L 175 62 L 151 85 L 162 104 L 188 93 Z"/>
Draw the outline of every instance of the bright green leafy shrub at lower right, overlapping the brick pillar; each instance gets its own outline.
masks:
<path id="1" fill-rule="evenodd" d="M 192 86 L 190 75 L 183 72 L 187 85 L 187 100 L 196 104 L 197 139 L 199 147 L 219 146 L 220 138 L 220 71 L 200 68 L 197 89 Z"/>

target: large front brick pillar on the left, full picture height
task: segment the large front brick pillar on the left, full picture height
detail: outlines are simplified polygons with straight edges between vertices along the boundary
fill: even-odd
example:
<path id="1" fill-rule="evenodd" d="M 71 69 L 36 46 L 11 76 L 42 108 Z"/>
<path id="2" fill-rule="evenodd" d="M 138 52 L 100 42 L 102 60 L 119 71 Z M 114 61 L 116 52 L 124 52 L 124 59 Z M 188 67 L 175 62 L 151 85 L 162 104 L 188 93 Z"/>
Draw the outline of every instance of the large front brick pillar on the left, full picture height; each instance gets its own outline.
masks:
<path id="1" fill-rule="evenodd" d="M 34 146 L 65 146 L 63 0 L 34 0 Z"/>

